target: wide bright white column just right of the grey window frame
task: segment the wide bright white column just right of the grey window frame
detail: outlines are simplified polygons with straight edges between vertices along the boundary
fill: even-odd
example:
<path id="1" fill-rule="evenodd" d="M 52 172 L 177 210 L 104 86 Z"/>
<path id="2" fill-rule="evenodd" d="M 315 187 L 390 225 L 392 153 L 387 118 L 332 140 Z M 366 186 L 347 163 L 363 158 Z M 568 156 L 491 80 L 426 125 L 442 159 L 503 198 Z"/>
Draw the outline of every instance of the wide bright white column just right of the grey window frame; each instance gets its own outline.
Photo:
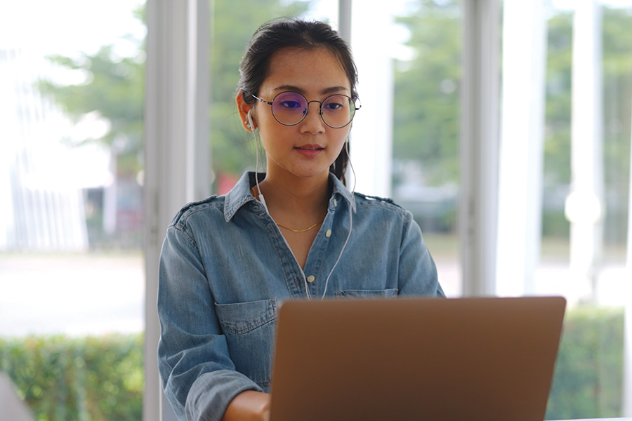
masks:
<path id="1" fill-rule="evenodd" d="M 545 73 L 544 0 L 505 1 L 498 295 L 535 292 L 541 236 Z"/>

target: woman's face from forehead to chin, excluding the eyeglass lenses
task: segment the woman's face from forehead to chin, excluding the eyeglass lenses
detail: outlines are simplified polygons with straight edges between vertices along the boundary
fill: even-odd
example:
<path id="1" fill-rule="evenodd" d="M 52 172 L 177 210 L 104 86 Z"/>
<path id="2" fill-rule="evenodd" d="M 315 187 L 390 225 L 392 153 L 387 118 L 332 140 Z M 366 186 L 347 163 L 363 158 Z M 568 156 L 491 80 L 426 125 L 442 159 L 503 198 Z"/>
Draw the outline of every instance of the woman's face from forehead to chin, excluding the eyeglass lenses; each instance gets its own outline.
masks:
<path id="1" fill-rule="evenodd" d="M 270 74 L 258 98 L 272 101 L 279 93 L 294 91 L 308 101 L 323 101 L 329 95 L 351 95 L 350 81 L 340 62 L 327 49 L 284 48 L 270 61 Z M 272 115 L 272 107 L 256 101 L 252 110 L 255 127 L 268 159 L 268 175 L 327 178 L 351 125 L 331 128 L 320 116 L 320 103 L 311 102 L 305 119 L 284 126 Z"/>

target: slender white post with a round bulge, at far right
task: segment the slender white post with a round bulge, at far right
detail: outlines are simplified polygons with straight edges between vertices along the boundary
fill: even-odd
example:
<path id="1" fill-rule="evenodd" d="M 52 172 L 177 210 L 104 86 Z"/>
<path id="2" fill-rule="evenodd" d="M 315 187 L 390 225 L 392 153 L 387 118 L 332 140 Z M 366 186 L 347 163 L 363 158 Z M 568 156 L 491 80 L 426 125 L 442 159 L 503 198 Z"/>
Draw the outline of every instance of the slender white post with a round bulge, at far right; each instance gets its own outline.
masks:
<path id="1" fill-rule="evenodd" d="M 603 106 L 601 6 L 577 0 L 573 19 L 570 269 L 577 290 L 595 300 L 603 221 Z"/>

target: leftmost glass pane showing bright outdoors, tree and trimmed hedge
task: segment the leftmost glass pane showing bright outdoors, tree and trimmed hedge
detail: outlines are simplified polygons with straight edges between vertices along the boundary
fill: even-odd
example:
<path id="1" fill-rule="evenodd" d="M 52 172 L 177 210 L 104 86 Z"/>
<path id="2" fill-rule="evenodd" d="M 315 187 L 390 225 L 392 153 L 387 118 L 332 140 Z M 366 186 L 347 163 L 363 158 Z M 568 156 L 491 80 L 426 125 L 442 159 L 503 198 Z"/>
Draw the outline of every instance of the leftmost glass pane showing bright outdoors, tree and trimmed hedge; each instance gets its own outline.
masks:
<path id="1" fill-rule="evenodd" d="M 144 5 L 0 13 L 0 371 L 37 420 L 140 420 Z"/>

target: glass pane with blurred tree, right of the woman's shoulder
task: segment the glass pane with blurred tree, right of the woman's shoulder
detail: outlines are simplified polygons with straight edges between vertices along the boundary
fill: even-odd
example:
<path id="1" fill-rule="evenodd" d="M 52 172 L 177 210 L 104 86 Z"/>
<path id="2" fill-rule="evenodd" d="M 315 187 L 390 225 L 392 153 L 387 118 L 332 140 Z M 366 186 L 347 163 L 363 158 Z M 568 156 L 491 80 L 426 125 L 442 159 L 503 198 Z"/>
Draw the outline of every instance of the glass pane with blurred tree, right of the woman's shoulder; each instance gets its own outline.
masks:
<path id="1" fill-rule="evenodd" d="M 393 199 L 419 223 L 445 293 L 459 296 L 460 2 L 406 2 L 395 24 Z"/>

